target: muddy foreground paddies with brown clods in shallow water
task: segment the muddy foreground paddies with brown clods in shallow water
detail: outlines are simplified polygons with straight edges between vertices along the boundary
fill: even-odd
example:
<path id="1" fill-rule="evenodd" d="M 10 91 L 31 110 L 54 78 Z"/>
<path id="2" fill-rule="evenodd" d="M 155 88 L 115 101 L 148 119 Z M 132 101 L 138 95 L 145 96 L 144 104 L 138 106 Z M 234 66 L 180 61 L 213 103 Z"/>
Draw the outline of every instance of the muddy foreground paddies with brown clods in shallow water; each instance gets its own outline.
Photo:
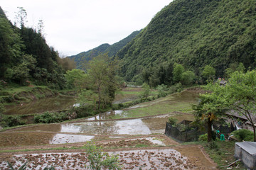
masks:
<path id="1" fill-rule="evenodd" d="M 156 147 L 149 140 L 142 139 L 143 137 L 154 137 L 163 141 L 169 147 Z M 107 136 L 99 137 L 99 139 L 104 138 L 107 138 Z M 88 164 L 85 150 L 74 149 L 74 147 L 82 147 L 83 145 L 85 145 L 84 142 L 65 145 L 1 148 L 0 169 L 6 169 L 6 161 L 16 165 L 28 161 L 28 168 L 31 169 L 46 167 L 46 165 L 53 165 L 56 169 L 85 169 L 85 164 Z M 139 169 L 139 167 L 142 169 L 216 169 L 216 165 L 205 154 L 202 147 L 197 145 L 178 145 L 177 142 L 165 135 L 127 136 L 96 141 L 95 145 L 101 146 L 105 152 L 110 154 L 119 154 L 119 161 L 123 169 Z M 142 147 L 137 147 L 138 145 Z M 7 149 L 17 151 L 4 152 Z M 24 149 L 47 150 L 26 152 Z M 19 152 L 18 150 L 22 151 Z"/>

